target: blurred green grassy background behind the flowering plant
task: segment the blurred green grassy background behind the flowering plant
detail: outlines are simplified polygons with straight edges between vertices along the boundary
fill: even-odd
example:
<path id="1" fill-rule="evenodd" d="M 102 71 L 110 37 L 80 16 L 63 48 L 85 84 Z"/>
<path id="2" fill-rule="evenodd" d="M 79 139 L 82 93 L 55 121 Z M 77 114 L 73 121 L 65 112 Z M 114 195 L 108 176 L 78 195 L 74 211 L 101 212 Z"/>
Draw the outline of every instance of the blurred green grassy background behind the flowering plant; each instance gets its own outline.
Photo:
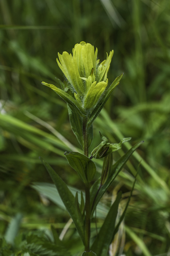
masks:
<path id="1" fill-rule="evenodd" d="M 0 237 L 12 239 L 8 226 L 18 213 L 23 216 L 19 233 L 45 228 L 50 234 L 50 224 L 56 223 L 61 235 L 69 220 L 39 156 L 72 189 L 81 189 L 63 154 L 81 149 L 65 102 L 41 82 L 58 86 L 55 78 L 64 77 L 57 52 L 72 52 L 85 41 L 98 48 L 101 61 L 114 49 L 110 83 L 124 72 L 94 122 L 90 149 L 100 143 L 99 130 L 112 143 L 132 137 L 114 154 L 115 161 L 145 141 L 102 200 L 97 222 L 118 190 L 124 207 L 138 168 L 115 248 L 120 253 L 124 248 L 127 256 L 170 255 L 169 27 L 169 0 L 0 0 Z M 81 255 L 82 244 L 71 227 L 64 239 L 73 255 Z M 110 255 L 116 252 L 111 249 Z"/>

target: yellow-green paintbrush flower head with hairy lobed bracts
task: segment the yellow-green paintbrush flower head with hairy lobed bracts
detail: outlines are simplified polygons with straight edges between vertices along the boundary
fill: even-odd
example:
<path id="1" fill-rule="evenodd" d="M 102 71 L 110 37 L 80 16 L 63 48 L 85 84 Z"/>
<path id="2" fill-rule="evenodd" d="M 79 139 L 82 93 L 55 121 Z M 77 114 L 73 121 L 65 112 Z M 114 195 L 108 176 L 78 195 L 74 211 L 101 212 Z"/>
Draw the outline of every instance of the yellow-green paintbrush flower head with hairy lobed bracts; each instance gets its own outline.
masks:
<path id="1" fill-rule="evenodd" d="M 98 103 L 101 103 L 100 101 L 105 100 L 103 98 L 105 94 L 108 98 L 113 91 L 113 84 L 111 88 L 108 87 L 107 74 L 114 51 L 112 50 L 109 56 L 107 54 L 106 60 L 101 63 L 97 59 L 97 48 L 95 50 L 94 46 L 89 43 L 76 44 L 72 52 L 72 54 L 68 52 L 58 53 L 57 58 L 58 66 L 66 78 L 67 87 L 70 91 L 63 87 L 64 92 L 61 92 L 61 89 L 54 85 L 42 83 L 53 89 L 67 103 L 70 104 L 72 101 L 73 105 L 84 114 L 86 110 L 93 110 Z M 114 84 L 114 88 L 117 84 Z"/>

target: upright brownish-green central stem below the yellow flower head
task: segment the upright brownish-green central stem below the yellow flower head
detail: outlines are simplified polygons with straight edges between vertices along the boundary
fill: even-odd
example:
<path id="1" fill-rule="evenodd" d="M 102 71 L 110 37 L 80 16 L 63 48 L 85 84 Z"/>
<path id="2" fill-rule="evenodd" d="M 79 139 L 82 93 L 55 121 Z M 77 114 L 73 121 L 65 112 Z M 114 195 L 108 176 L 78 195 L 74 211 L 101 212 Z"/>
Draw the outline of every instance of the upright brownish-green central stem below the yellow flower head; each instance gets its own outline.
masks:
<path id="1" fill-rule="evenodd" d="M 83 120 L 83 150 L 84 155 L 89 156 L 88 154 L 88 134 L 87 134 L 87 118 Z M 85 251 L 90 251 L 90 184 L 87 182 L 85 184 Z"/>

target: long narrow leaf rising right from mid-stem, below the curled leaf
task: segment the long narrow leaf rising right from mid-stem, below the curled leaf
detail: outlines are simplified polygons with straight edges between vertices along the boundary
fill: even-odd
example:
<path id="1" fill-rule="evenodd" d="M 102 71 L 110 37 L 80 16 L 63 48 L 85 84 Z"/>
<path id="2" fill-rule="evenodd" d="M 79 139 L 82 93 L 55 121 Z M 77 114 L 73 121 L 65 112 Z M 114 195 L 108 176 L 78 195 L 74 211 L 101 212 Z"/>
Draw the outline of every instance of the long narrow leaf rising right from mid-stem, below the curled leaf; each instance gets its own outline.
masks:
<path id="1" fill-rule="evenodd" d="M 138 142 L 136 145 L 134 145 L 132 148 L 128 150 L 128 152 L 122 156 L 112 167 L 112 172 L 108 176 L 105 184 L 100 187 L 100 180 L 97 180 L 93 186 L 91 187 L 90 191 L 90 199 L 91 199 L 91 205 L 92 205 L 92 216 L 94 213 L 94 210 L 96 209 L 97 204 L 99 203 L 100 199 L 104 195 L 104 193 L 108 190 L 108 188 L 111 186 L 114 179 L 117 177 L 117 175 L 120 173 L 126 162 L 128 161 L 131 154 L 138 148 L 144 141 Z M 98 186 L 97 186 L 98 185 Z M 100 187 L 100 190 L 99 190 Z M 98 191 L 99 190 L 99 191 Z M 95 196 L 97 194 L 97 196 Z"/>

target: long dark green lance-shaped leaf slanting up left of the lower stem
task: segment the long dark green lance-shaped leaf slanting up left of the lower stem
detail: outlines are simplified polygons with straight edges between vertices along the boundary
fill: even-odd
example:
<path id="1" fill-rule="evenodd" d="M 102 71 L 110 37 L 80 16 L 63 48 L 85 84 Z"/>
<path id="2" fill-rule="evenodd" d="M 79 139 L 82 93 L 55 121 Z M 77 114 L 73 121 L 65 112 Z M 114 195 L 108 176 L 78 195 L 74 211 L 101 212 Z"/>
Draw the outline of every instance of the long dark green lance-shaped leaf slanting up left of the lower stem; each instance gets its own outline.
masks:
<path id="1" fill-rule="evenodd" d="M 70 214 L 76 229 L 84 243 L 84 229 L 83 229 L 83 223 L 82 219 L 78 214 L 76 214 L 75 211 L 75 197 L 71 193 L 71 191 L 68 189 L 65 182 L 58 176 L 58 174 L 50 167 L 48 163 L 46 163 L 42 157 L 40 157 L 43 165 L 45 166 L 46 170 L 48 171 L 51 179 L 53 180 L 58 193 L 65 205 L 65 208 L 67 209 L 68 213 Z"/>

